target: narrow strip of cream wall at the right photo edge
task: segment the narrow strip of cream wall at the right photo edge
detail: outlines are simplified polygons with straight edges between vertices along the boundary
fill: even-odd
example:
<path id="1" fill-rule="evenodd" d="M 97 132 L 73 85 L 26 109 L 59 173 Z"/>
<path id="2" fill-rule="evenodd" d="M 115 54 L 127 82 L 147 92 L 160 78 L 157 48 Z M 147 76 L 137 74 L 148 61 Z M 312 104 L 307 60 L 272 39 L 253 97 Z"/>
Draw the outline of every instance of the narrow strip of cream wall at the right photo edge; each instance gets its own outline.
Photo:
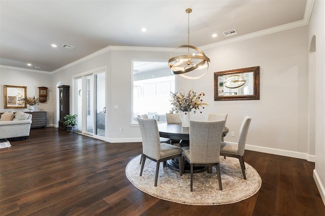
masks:
<path id="1" fill-rule="evenodd" d="M 315 52 L 310 52 L 310 59 L 314 68 L 314 73 L 310 74 L 311 82 L 315 84 L 316 95 L 310 104 L 313 108 L 310 110 L 310 116 L 315 121 L 311 121 L 315 128 L 315 169 L 314 179 L 321 198 L 325 204 L 325 2 L 316 0 L 313 8 L 313 13 L 308 26 L 308 43 L 312 46 L 312 38 L 315 37 Z M 313 51 L 313 50 L 312 50 Z M 312 91 L 312 90 L 311 90 Z"/>

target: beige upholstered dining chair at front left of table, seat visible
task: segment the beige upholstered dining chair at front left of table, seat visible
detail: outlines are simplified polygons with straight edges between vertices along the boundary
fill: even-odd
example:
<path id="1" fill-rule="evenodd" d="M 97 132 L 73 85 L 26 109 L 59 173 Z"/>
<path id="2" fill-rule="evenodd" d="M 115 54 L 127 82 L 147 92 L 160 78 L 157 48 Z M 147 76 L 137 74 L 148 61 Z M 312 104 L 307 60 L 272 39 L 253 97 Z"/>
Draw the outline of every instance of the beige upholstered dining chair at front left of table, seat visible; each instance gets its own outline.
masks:
<path id="1" fill-rule="evenodd" d="M 141 136 L 142 136 L 142 156 L 140 176 L 142 176 L 146 158 L 156 162 L 156 173 L 154 179 L 154 186 L 157 186 L 158 172 L 160 162 L 165 162 L 170 159 L 179 158 L 179 172 L 182 175 L 182 149 L 170 145 L 168 143 L 160 143 L 159 131 L 155 119 L 142 119 L 137 118 Z"/>

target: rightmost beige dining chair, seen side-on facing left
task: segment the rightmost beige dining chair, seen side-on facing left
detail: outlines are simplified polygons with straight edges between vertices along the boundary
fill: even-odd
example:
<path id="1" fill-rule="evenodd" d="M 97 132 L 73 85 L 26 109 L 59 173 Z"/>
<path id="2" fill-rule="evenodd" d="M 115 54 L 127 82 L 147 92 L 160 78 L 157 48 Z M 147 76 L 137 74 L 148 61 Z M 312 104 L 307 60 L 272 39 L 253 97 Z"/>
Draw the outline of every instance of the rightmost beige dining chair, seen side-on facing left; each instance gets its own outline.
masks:
<path id="1" fill-rule="evenodd" d="M 237 143 L 222 141 L 220 147 L 220 155 L 239 159 L 239 163 L 243 172 L 244 179 L 246 179 L 246 173 L 245 173 L 246 168 L 244 162 L 245 143 L 246 143 L 250 121 L 251 118 L 245 116 L 239 129 L 239 137 Z"/>

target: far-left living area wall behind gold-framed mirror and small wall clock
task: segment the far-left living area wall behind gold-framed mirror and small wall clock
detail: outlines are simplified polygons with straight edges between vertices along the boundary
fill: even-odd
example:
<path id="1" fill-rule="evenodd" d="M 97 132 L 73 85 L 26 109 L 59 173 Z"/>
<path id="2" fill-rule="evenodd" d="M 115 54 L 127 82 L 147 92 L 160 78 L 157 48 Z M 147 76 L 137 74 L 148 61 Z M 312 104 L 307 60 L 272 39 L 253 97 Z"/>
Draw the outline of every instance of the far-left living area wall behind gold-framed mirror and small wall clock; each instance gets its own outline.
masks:
<path id="1" fill-rule="evenodd" d="M 4 109 L 4 85 L 27 86 L 27 96 L 39 96 L 38 87 L 48 87 L 48 96 L 45 103 L 40 103 L 35 111 L 46 111 L 47 126 L 52 126 L 53 113 L 55 110 L 55 98 L 52 92 L 55 92 L 52 86 L 52 75 L 50 73 L 40 73 L 37 70 L 0 66 L 0 112 L 4 111 L 26 111 L 28 109 Z"/>

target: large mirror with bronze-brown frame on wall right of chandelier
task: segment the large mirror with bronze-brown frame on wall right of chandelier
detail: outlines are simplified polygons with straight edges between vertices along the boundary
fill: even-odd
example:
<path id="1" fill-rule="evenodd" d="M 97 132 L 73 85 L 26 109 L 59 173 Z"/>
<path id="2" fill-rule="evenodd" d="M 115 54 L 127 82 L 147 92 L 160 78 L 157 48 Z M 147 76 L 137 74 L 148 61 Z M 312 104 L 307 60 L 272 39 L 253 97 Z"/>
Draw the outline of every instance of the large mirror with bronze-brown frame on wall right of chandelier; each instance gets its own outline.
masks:
<path id="1" fill-rule="evenodd" d="M 259 100 L 259 66 L 215 72 L 214 100 Z"/>

